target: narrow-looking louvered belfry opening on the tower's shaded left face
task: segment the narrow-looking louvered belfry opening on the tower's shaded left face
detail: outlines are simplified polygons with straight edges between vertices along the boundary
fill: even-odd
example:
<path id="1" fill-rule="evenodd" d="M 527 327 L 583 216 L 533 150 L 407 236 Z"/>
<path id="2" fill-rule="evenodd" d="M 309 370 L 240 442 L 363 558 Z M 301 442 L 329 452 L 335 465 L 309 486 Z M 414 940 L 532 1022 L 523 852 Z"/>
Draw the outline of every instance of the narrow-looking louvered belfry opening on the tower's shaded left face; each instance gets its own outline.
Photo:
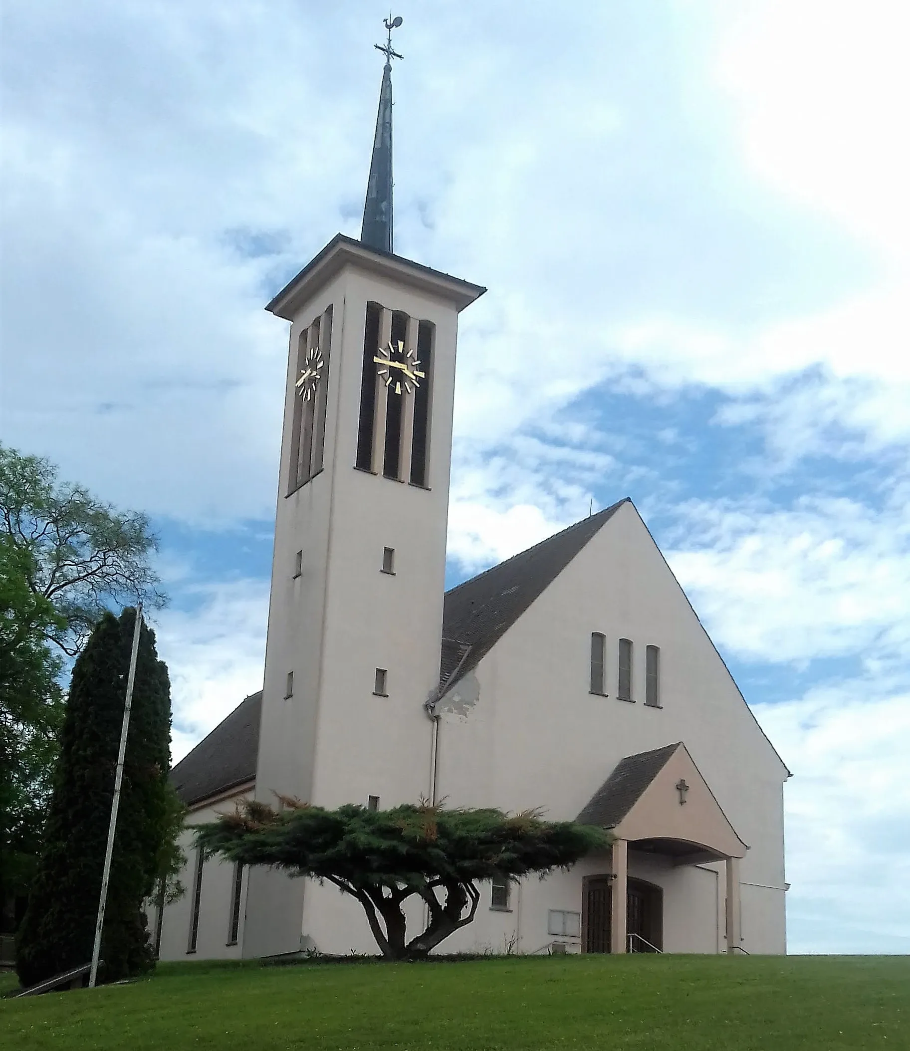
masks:
<path id="1" fill-rule="evenodd" d="M 288 493 L 305 486 L 323 470 L 331 343 L 332 307 L 329 306 L 297 336 Z M 301 383 L 308 369 L 317 371 L 315 383 Z"/>

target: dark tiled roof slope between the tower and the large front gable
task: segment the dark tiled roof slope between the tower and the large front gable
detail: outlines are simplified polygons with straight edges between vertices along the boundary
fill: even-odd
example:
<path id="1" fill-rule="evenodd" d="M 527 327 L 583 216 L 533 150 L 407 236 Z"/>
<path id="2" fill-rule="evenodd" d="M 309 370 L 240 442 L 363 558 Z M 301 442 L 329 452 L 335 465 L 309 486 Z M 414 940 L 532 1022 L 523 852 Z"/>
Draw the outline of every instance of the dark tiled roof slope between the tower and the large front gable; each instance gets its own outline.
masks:
<path id="1" fill-rule="evenodd" d="M 446 593 L 439 688 L 474 668 L 628 497 Z M 462 652 L 457 659 L 456 647 Z M 460 662 L 460 663 L 459 663 Z"/>

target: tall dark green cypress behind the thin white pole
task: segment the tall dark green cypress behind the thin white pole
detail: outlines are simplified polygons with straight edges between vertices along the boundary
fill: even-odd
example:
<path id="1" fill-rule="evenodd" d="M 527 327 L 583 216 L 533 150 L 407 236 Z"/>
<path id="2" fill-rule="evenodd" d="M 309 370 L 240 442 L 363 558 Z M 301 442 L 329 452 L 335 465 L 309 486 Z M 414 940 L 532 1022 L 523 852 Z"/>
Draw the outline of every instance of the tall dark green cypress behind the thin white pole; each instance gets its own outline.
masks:
<path id="1" fill-rule="evenodd" d="M 17 944 L 34 985 L 91 959 L 136 611 L 105 614 L 73 668 L 39 873 Z M 140 633 L 132 713 L 101 944 L 104 981 L 153 966 L 143 901 L 167 822 L 170 685 L 154 633 Z"/>

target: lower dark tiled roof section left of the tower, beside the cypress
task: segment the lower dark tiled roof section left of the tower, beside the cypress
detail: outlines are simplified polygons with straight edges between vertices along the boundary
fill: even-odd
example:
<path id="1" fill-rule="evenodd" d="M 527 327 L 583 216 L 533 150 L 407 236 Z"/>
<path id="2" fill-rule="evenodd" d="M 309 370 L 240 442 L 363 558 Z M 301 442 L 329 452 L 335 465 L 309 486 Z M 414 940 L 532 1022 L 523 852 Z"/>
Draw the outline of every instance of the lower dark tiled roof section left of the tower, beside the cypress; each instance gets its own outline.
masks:
<path id="1" fill-rule="evenodd" d="M 245 698 L 170 771 L 187 806 L 255 778 L 262 706 L 262 691 Z"/>

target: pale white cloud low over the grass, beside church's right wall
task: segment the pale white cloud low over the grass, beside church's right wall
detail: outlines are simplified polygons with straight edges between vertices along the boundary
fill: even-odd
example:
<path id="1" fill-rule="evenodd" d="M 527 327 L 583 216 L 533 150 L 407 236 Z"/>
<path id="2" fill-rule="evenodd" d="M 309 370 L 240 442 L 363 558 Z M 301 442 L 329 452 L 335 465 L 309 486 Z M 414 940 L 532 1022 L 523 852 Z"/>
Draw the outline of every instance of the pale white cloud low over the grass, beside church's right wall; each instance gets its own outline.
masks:
<path id="1" fill-rule="evenodd" d="M 754 707 L 786 756 L 790 952 L 910 952 L 910 694 L 862 679 Z"/>

